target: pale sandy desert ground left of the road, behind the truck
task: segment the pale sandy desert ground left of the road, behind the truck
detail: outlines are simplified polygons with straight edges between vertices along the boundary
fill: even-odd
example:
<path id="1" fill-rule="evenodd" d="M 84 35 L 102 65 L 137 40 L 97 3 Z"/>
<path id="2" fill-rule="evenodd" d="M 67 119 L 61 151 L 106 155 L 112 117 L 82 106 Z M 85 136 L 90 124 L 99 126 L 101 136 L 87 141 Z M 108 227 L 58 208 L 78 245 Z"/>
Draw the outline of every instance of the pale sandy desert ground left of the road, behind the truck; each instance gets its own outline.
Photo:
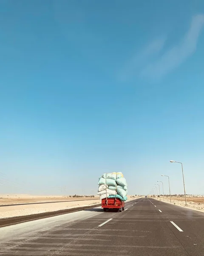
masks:
<path id="1" fill-rule="evenodd" d="M 19 196 L 18 196 L 19 197 Z M 25 204 L 25 205 L 14 205 L 14 206 L 2 206 L 0 207 L 0 218 L 10 218 L 14 216 L 24 216 L 24 215 L 31 215 L 31 214 L 37 214 L 42 212 L 54 212 L 62 209 L 70 209 L 75 207 L 82 207 L 82 206 L 88 206 L 94 204 L 100 204 L 101 201 L 99 198 L 97 200 L 90 200 L 91 198 L 88 198 L 86 201 L 74 201 L 74 200 L 82 200 L 84 198 L 64 198 L 61 200 L 68 201 L 69 199 L 72 199 L 69 202 L 59 202 L 59 203 L 53 203 L 52 201 L 60 201 L 60 197 L 39 197 L 39 198 L 33 198 L 33 196 L 27 196 L 20 199 L 21 201 L 18 201 L 16 198 L 6 198 L 9 199 L 7 202 L 8 204 L 17 204 L 17 203 L 32 203 L 32 202 L 48 202 L 50 200 L 50 203 L 48 204 Z M 136 198 L 130 198 L 129 200 L 133 200 Z M 3 200 L 4 198 L 1 198 L 0 200 Z M 10 201 L 11 199 L 11 201 Z M 34 201 L 31 201 L 31 199 L 34 199 Z M 87 199 L 87 198 L 86 198 Z M 6 201 L 5 201 L 6 202 Z"/>

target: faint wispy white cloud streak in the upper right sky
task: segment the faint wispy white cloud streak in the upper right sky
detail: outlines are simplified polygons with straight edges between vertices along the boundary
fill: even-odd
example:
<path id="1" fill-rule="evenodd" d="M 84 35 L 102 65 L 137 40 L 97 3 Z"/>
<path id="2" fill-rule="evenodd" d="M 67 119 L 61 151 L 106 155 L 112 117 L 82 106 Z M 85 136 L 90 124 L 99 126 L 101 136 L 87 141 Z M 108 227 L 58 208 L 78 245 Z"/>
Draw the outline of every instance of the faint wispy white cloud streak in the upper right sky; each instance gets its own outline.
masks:
<path id="1" fill-rule="evenodd" d="M 159 55 L 164 47 L 165 38 L 154 40 L 142 53 L 136 55 L 125 67 L 129 66 L 126 75 L 141 74 L 149 78 L 159 79 L 180 66 L 196 50 L 201 29 L 204 26 L 204 15 L 195 15 L 190 28 L 181 42 Z M 154 58 L 153 58 L 154 56 Z M 156 57 L 156 58 L 155 58 Z M 133 72 L 134 71 L 134 72 Z"/>

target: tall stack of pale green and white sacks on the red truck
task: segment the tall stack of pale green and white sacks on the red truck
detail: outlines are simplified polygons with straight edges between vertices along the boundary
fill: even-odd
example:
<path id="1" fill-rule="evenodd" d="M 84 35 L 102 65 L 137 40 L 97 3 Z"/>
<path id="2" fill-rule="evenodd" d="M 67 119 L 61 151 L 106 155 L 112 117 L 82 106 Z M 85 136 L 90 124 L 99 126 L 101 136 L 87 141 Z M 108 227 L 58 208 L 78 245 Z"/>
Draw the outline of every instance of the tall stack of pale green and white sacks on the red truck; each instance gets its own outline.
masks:
<path id="1" fill-rule="evenodd" d="M 97 195 L 100 200 L 104 198 L 119 198 L 127 200 L 127 182 L 122 172 L 104 173 L 99 177 Z"/>

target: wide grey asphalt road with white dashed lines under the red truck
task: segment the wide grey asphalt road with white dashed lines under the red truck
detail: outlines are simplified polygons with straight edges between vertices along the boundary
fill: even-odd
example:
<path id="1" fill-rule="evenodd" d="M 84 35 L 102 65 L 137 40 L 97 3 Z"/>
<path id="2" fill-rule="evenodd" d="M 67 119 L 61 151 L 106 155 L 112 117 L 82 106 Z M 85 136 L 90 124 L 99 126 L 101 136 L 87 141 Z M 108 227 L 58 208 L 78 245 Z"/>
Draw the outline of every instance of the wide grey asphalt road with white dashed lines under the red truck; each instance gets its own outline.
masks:
<path id="1" fill-rule="evenodd" d="M 0 228 L 1 256 L 204 256 L 204 214 L 151 198 Z"/>

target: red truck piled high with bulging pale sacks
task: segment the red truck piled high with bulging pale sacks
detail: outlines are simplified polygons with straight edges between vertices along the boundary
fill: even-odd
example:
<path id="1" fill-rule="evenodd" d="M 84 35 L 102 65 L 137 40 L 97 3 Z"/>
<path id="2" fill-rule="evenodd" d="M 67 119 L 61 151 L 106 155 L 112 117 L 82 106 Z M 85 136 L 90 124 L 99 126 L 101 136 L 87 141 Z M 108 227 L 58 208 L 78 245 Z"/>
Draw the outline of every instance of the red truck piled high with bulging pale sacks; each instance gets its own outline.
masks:
<path id="1" fill-rule="evenodd" d="M 99 177 L 97 195 L 102 200 L 103 211 L 108 209 L 125 209 L 127 200 L 127 182 L 122 172 L 104 173 Z"/>

